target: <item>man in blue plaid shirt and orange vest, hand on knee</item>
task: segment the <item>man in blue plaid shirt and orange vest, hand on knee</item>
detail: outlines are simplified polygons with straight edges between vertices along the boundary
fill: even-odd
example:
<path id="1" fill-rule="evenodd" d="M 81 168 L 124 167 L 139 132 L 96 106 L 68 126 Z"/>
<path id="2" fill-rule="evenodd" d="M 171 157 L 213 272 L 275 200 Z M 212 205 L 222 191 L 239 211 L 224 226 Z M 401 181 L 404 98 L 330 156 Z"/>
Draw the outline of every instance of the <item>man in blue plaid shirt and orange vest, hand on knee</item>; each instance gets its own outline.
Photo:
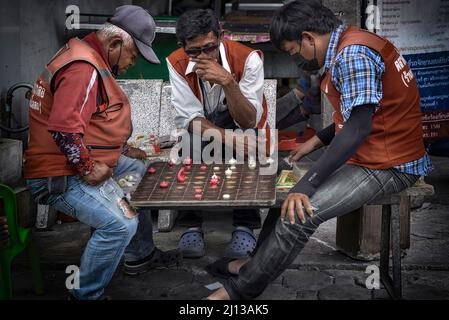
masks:
<path id="1" fill-rule="evenodd" d="M 299 54 L 302 67 L 324 67 L 321 90 L 333 124 L 291 155 L 327 149 L 270 210 L 250 259 L 234 261 L 224 289 L 209 299 L 252 299 L 296 259 L 318 226 L 376 197 L 400 192 L 431 170 L 423 144 L 420 97 L 407 62 L 388 40 L 347 26 L 318 1 L 283 6 L 270 30 L 273 44 Z"/>

